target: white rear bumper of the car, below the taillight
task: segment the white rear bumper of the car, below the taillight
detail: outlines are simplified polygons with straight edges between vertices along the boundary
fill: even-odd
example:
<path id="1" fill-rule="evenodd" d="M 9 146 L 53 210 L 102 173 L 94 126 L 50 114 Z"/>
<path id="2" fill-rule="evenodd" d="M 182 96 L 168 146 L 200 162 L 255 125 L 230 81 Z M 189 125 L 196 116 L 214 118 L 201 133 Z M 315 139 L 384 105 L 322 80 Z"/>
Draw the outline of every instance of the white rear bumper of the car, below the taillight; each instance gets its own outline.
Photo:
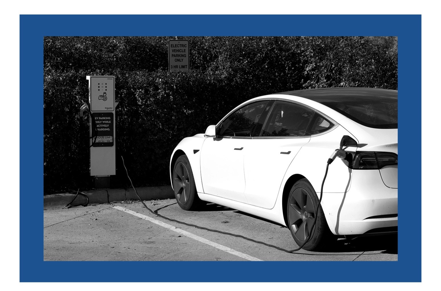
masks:
<path id="1" fill-rule="evenodd" d="M 398 189 L 385 186 L 378 170 L 353 170 L 346 193 L 324 193 L 321 201 L 335 235 L 390 233 L 398 227 Z"/>

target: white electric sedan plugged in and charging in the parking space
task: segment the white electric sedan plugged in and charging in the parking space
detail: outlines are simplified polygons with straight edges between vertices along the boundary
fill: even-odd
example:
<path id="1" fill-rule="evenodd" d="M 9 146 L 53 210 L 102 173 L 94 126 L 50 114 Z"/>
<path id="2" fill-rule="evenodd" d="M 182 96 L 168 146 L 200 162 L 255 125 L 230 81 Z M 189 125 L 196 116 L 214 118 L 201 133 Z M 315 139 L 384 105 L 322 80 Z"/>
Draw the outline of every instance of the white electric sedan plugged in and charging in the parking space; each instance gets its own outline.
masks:
<path id="1" fill-rule="evenodd" d="M 306 250 L 337 236 L 397 232 L 397 101 L 396 90 L 374 88 L 246 101 L 176 146 L 176 200 L 186 210 L 208 201 L 286 225 Z M 329 164 L 318 205 L 337 149 L 344 154 Z"/>

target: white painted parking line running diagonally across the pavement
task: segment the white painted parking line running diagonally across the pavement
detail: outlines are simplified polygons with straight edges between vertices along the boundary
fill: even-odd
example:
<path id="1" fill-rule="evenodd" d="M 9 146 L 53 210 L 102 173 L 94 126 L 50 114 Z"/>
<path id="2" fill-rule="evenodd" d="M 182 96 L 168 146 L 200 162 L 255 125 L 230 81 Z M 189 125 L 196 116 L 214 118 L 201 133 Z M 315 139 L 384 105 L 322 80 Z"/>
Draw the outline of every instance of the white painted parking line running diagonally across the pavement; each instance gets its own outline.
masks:
<path id="1" fill-rule="evenodd" d="M 201 243 L 206 243 L 209 246 L 214 246 L 215 248 L 217 248 L 219 250 L 223 250 L 224 252 L 227 252 L 227 253 L 233 254 L 235 256 L 244 258 L 244 259 L 246 259 L 248 261 L 262 261 L 262 260 L 258 259 L 257 257 L 251 257 L 250 255 L 243 254 L 241 252 L 238 252 L 237 250 L 233 250 L 233 249 L 230 249 L 229 247 L 222 246 L 222 245 L 220 245 L 218 243 L 214 243 L 214 242 L 212 242 L 212 241 L 210 241 L 208 239 L 204 239 L 204 238 L 202 238 L 202 237 L 200 237 L 198 235 L 194 235 L 194 234 L 192 234 L 192 233 L 190 233 L 188 231 L 184 231 L 184 230 L 182 230 L 180 228 L 176 228 L 176 227 L 174 227 L 174 226 L 172 226 L 170 224 L 166 224 L 166 223 L 164 223 L 162 221 L 156 220 L 154 218 L 151 218 L 149 216 L 143 215 L 141 213 L 137 213 L 135 211 L 132 211 L 132 210 L 120 207 L 120 206 L 113 206 L 113 208 L 121 210 L 121 211 L 124 211 L 125 213 L 129 213 L 131 215 L 138 216 L 138 217 L 140 217 L 142 219 L 149 220 L 150 222 L 153 222 L 154 224 L 161 225 L 164 228 L 168 228 L 168 229 L 170 229 L 172 231 L 176 231 L 177 233 L 180 233 L 181 235 L 185 235 L 185 236 L 187 236 L 187 237 L 189 237 L 191 239 L 195 239 L 195 240 L 197 240 L 197 241 L 199 241 Z"/>

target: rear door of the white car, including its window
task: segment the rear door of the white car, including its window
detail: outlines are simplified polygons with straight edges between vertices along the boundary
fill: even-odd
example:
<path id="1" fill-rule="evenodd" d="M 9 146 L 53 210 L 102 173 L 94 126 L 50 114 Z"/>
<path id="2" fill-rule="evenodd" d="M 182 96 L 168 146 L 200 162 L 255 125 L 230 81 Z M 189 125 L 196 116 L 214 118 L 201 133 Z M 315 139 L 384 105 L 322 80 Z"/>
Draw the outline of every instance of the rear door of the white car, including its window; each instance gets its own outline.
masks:
<path id="1" fill-rule="evenodd" d="M 247 203 L 271 209 L 295 155 L 310 141 L 306 134 L 314 110 L 288 101 L 275 101 L 253 146 L 244 152 Z"/>

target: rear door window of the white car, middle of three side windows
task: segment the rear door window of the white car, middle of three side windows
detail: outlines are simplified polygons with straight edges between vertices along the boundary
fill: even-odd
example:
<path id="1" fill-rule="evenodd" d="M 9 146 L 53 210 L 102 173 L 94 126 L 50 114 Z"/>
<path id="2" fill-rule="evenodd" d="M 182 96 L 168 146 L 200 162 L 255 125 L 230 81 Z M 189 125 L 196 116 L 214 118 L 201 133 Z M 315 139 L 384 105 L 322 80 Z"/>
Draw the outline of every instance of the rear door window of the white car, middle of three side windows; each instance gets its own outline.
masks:
<path id="1" fill-rule="evenodd" d="M 314 111 L 285 101 L 275 101 L 261 136 L 304 136 Z"/>

